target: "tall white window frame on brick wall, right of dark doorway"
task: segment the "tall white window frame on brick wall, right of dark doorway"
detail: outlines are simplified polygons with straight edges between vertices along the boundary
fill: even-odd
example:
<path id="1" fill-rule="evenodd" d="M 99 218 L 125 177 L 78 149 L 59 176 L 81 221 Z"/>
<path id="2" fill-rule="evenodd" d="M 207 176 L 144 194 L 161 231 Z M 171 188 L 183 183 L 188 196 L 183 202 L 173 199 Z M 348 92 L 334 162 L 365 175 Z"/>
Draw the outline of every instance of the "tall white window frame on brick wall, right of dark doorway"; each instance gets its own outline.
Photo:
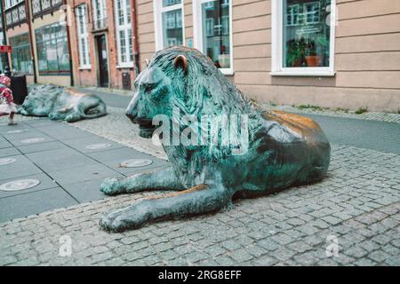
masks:
<path id="1" fill-rule="evenodd" d="M 118 5 L 116 4 L 116 1 L 121 1 L 122 3 L 122 8 L 124 11 L 124 25 L 119 25 L 118 23 Z M 114 12 L 115 12 L 115 20 L 116 20 L 116 49 L 117 49 L 117 58 L 118 58 L 118 65 L 116 66 L 117 68 L 132 68 L 133 67 L 133 60 L 131 60 L 131 54 L 130 54 L 130 46 L 129 46 L 129 39 L 130 39 L 130 33 L 129 29 L 131 29 L 131 39 L 132 39 L 132 22 L 128 23 L 128 13 L 131 13 L 131 9 L 127 9 L 126 7 L 126 0 L 114 0 Z M 132 15 L 131 15 L 131 21 L 132 21 Z M 121 38 L 119 36 L 119 32 L 124 31 L 125 35 L 125 49 L 126 49 L 126 61 L 122 62 L 121 58 Z M 132 43 L 133 44 L 133 43 Z M 132 45 L 133 46 L 133 45 Z"/>

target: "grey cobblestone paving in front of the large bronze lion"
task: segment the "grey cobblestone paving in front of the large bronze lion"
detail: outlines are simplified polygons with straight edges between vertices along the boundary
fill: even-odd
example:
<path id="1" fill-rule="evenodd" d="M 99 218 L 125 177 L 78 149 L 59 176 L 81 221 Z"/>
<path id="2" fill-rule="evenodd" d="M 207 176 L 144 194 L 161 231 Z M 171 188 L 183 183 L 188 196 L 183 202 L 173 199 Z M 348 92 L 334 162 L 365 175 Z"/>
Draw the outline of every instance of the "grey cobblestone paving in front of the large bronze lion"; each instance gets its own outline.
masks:
<path id="1" fill-rule="evenodd" d="M 322 183 L 236 201 L 216 214 L 100 230 L 102 212 L 153 192 L 0 224 L 0 265 L 400 265 L 399 190 L 400 155 L 333 146 Z M 60 256 L 62 236 L 71 256 Z M 339 251 L 328 257 L 332 237 Z"/>

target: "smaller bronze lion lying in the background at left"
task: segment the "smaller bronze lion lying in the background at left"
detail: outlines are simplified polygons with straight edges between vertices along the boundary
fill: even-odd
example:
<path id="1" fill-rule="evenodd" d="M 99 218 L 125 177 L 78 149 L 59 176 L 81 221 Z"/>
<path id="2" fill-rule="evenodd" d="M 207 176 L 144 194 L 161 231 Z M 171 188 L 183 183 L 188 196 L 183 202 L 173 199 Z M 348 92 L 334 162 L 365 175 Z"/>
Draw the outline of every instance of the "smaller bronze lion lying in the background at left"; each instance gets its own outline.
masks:
<path id="1" fill-rule="evenodd" d="M 44 84 L 29 91 L 20 108 L 20 114 L 77 122 L 106 115 L 107 107 L 96 95 L 78 93 L 54 84 Z"/>

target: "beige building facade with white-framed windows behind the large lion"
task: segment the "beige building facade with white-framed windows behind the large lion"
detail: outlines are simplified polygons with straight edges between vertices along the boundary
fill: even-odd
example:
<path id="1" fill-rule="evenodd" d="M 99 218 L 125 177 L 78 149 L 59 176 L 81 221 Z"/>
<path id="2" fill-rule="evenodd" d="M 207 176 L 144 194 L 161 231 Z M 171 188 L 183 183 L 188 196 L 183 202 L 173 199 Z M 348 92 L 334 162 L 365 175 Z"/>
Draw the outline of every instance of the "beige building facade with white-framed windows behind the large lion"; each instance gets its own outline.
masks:
<path id="1" fill-rule="evenodd" d="M 249 97 L 397 112 L 398 0 L 137 0 L 140 69 L 164 47 L 209 56 Z"/>

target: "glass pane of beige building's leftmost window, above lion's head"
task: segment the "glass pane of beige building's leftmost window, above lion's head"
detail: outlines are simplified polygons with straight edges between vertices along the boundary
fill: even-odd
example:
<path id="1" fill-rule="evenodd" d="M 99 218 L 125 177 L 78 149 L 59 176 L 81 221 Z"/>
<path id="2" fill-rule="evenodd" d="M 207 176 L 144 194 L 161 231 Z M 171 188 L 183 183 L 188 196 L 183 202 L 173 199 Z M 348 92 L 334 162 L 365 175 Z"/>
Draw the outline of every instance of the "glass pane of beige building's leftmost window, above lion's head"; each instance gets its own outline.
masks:
<path id="1" fill-rule="evenodd" d="M 182 12 L 173 10 L 163 12 L 164 48 L 183 44 Z"/>

